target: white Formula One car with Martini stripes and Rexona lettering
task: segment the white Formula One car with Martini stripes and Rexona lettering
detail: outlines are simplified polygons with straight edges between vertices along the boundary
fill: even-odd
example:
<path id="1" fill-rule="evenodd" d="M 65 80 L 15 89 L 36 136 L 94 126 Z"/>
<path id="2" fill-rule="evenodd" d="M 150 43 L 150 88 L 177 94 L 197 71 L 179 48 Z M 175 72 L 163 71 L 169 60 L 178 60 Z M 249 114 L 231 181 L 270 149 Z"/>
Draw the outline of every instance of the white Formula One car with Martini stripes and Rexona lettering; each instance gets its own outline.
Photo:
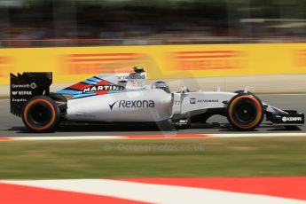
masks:
<path id="1" fill-rule="evenodd" d="M 265 104 L 247 90 L 170 92 L 165 82 L 145 85 L 145 80 L 145 70 L 134 67 L 133 73 L 97 75 L 51 93 L 51 73 L 11 74 L 11 113 L 35 132 L 75 123 L 166 122 L 190 128 L 215 114 L 239 130 L 257 128 L 264 115 L 273 124 L 304 124 L 304 114 Z"/>

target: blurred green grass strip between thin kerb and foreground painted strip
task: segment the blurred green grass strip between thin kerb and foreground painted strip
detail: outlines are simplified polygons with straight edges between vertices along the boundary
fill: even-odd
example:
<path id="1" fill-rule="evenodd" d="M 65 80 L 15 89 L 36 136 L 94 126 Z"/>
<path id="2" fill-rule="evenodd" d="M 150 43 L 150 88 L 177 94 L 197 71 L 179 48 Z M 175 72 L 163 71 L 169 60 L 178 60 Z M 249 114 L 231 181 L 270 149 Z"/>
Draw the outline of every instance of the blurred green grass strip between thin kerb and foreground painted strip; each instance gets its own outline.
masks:
<path id="1" fill-rule="evenodd" d="M 0 179 L 283 176 L 306 176 L 306 137 L 0 142 Z"/>

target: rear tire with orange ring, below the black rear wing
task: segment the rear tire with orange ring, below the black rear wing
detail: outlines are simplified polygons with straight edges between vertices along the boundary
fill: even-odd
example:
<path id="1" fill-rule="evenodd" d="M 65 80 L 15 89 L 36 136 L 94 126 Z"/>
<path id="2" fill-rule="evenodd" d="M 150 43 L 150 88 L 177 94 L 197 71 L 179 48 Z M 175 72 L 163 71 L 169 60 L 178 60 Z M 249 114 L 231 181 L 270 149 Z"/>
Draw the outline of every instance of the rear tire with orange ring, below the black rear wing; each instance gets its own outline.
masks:
<path id="1" fill-rule="evenodd" d="M 52 98 L 36 96 L 22 109 L 22 121 L 33 132 L 53 132 L 59 124 L 59 106 Z"/>

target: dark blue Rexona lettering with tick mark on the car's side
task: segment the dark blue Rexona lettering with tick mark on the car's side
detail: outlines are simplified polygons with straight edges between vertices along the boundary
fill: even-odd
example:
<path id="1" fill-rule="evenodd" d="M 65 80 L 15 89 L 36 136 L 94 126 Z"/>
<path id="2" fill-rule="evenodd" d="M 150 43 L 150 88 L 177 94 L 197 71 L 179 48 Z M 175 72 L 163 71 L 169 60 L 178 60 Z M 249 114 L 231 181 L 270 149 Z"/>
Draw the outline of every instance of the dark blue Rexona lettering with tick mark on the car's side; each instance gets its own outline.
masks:
<path id="1" fill-rule="evenodd" d="M 118 108 L 149 108 L 155 107 L 155 102 L 153 100 L 118 100 L 108 106 L 113 110 L 115 105 L 118 105 Z"/>

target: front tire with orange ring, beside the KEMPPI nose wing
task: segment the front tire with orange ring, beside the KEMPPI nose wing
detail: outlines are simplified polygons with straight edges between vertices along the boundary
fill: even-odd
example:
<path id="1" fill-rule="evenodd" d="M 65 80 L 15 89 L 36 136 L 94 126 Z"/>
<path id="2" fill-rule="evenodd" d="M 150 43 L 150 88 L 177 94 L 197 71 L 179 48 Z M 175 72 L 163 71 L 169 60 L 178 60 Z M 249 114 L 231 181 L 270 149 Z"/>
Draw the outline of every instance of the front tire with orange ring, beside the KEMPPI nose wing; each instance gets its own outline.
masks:
<path id="1" fill-rule="evenodd" d="M 253 94 L 237 94 L 231 98 L 226 116 L 235 129 L 253 130 L 263 122 L 263 103 Z"/>

